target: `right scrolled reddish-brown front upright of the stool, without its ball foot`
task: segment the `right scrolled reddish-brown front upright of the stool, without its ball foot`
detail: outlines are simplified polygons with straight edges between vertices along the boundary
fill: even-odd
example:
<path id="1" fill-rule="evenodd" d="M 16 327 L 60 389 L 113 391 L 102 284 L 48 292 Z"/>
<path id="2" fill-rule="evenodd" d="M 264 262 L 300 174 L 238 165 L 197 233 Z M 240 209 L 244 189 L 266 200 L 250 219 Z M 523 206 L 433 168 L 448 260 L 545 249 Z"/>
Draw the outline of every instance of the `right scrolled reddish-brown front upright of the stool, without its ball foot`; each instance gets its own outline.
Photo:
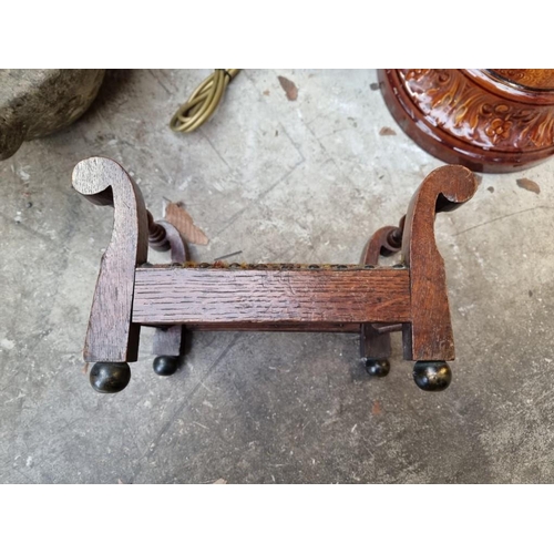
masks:
<path id="1" fill-rule="evenodd" d="M 403 326 L 406 359 L 454 359 L 447 275 L 434 239 L 434 215 L 460 207 L 476 188 L 470 170 L 447 165 L 431 172 L 411 199 L 402 236 L 411 293 L 411 322 Z"/>

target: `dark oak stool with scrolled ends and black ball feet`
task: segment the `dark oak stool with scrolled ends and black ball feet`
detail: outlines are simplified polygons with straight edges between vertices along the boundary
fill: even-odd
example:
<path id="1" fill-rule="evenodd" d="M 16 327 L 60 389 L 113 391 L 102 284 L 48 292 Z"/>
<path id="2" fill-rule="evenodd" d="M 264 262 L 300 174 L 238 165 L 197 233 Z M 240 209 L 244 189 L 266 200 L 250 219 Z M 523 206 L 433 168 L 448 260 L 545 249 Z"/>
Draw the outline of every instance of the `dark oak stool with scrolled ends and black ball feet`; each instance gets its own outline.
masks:
<path id="1" fill-rule="evenodd" d="M 461 165 L 433 171 L 399 226 L 373 234 L 359 265 L 193 264 L 178 232 L 154 222 L 121 165 L 104 157 L 80 162 L 73 187 L 114 208 L 84 346 L 84 360 L 95 362 L 93 388 L 119 392 L 127 386 L 127 362 L 137 360 L 141 326 L 147 326 L 156 328 L 154 370 L 165 376 L 177 369 L 185 329 L 353 332 L 368 372 L 377 377 L 389 372 L 390 334 L 402 331 L 418 387 L 444 390 L 454 340 L 434 217 L 468 202 L 476 186 Z M 172 264 L 148 264 L 148 243 L 171 250 Z M 379 267 L 380 256 L 397 252 L 401 264 Z"/>

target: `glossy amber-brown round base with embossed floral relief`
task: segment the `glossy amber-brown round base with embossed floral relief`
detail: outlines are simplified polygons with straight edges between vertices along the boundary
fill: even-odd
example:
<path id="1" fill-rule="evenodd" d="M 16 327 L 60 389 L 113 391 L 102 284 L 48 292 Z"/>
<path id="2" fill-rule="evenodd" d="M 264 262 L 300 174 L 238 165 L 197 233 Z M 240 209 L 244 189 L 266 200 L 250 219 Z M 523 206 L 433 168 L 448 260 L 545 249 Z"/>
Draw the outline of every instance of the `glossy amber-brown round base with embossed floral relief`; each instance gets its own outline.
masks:
<path id="1" fill-rule="evenodd" d="M 379 70 L 403 131 L 433 156 L 488 173 L 554 154 L 554 70 Z"/>

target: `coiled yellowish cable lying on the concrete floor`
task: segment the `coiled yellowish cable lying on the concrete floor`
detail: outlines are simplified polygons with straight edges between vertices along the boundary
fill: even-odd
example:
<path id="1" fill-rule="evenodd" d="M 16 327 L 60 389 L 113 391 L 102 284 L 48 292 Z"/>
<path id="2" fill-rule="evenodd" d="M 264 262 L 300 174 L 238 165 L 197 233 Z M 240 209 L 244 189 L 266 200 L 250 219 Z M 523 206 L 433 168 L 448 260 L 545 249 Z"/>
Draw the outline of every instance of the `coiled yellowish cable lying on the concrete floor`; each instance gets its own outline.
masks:
<path id="1" fill-rule="evenodd" d="M 170 126 L 173 131 L 189 133 L 206 123 L 225 94 L 225 89 L 240 70 L 215 70 L 175 112 Z"/>

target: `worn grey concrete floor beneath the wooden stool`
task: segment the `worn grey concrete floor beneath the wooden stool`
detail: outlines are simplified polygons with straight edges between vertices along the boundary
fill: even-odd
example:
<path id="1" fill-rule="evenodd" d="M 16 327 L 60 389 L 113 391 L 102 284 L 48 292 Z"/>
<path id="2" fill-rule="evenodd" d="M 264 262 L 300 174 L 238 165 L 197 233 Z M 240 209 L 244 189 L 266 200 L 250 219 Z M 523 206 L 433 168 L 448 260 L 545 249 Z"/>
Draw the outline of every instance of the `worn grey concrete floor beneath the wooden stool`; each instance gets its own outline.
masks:
<path id="1" fill-rule="evenodd" d="M 109 72 L 80 121 L 0 162 L 0 482 L 553 482 L 554 161 L 483 175 L 437 219 L 458 355 L 443 393 L 417 389 L 397 336 L 381 380 L 353 336 L 238 332 L 196 334 L 160 378 L 147 329 L 125 391 L 91 389 L 81 349 L 112 214 L 71 188 L 80 160 L 122 163 L 156 217 L 183 201 L 211 239 L 198 261 L 357 263 L 441 165 L 375 71 L 244 71 L 199 132 L 172 133 L 206 74 Z"/>

